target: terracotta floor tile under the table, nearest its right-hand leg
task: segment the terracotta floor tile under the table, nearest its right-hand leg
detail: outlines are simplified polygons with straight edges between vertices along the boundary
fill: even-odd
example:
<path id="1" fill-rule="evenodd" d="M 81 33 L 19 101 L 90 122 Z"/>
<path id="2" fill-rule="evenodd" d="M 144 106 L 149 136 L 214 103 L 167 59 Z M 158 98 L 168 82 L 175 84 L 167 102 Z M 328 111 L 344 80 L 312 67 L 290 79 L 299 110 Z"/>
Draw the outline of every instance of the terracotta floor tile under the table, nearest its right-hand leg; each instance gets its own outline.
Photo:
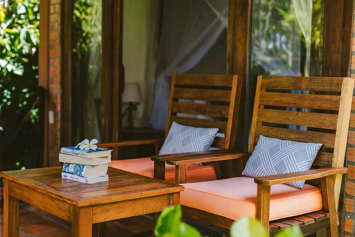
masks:
<path id="1" fill-rule="evenodd" d="M 143 215 L 114 220 L 114 222 L 137 232 L 147 231 L 153 228 L 153 220 Z"/>

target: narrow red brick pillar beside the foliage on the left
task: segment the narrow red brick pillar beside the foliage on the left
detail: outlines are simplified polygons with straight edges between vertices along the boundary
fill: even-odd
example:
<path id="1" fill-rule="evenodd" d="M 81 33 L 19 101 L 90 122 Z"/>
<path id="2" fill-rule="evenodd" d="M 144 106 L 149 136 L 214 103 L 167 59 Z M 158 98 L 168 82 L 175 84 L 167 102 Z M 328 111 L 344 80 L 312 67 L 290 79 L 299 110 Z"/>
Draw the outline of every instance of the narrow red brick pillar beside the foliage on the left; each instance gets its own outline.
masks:
<path id="1" fill-rule="evenodd" d="M 60 12 L 61 0 L 50 0 L 49 14 L 49 111 L 53 122 L 49 124 L 49 166 L 59 165 L 60 142 Z"/>

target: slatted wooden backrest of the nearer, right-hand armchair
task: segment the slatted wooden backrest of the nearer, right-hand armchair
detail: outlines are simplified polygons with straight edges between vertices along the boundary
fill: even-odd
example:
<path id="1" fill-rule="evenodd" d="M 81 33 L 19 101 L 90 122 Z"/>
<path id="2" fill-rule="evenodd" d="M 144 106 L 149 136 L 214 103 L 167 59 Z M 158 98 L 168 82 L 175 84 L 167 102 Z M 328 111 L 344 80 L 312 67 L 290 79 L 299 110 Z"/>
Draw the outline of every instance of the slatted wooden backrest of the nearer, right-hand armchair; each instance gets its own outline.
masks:
<path id="1" fill-rule="evenodd" d="M 313 165 L 343 167 L 353 89 L 354 79 L 348 77 L 259 76 L 249 151 L 253 151 L 260 135 L 317 142 L 322 143 L 323 148 Z M 291 93 L 291 90 L 305 90 L 308 94 Z M 286 110 L 287 107 L 310 110 L 295 112 Z M 305 126 L 308 129 L 277 128 L 270 124 Z M 335 181 L 336 201 L 339 200 L 341 179 L 342 175 Z"/>

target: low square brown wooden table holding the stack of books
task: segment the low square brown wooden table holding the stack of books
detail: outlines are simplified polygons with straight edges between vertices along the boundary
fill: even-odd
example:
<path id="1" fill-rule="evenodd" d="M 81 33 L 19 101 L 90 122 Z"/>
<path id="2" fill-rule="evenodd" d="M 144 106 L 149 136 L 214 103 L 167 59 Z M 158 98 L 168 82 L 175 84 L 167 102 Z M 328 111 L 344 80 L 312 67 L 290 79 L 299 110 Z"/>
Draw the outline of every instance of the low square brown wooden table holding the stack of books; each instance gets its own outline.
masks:
<path id="1" fill-rule="evenodd" d="M 62 167 L 1 172 L 4 236 L 18 237 L 22 200 L 72 223 L 72 237 L 104 237 L 106 221 L 162 211 L 180 202 L 183 186 L 109 167 L 108 182 L 61 178 Z"/>

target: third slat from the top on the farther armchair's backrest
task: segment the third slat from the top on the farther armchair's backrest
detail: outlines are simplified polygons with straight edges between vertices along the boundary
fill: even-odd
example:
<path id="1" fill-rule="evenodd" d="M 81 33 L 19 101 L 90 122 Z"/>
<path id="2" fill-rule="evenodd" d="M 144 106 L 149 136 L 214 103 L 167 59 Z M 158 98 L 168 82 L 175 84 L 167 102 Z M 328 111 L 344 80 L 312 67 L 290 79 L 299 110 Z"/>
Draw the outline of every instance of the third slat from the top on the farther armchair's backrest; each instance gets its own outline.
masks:
<path id="1" fill-rule="evenodd" d="M 173 113 L 198 114 L 228 118 L 229 106 L 189 102 L 173 102 L 171 111 Z"/>

